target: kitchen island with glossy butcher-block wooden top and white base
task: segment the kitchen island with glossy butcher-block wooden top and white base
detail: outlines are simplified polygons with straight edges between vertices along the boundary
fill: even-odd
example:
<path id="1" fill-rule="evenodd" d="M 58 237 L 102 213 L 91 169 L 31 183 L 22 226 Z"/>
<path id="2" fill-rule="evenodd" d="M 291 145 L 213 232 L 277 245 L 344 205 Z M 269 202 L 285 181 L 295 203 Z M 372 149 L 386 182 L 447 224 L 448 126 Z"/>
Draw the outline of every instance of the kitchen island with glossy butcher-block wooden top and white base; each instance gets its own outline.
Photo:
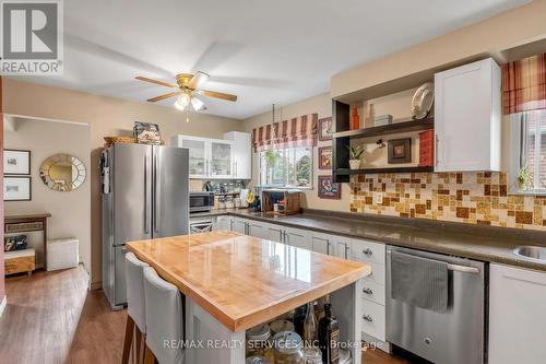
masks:
<path id="1" fill-rule="evenodd" d="M 331 294 L 341 341 L 360 363 L 361 281 L 370 266 L 212 232 L 127 244 L 186 295 L 186 363 L 245 363 L 245 330 Z M 216 341 L 217 340 L 217 341 Z"/>

